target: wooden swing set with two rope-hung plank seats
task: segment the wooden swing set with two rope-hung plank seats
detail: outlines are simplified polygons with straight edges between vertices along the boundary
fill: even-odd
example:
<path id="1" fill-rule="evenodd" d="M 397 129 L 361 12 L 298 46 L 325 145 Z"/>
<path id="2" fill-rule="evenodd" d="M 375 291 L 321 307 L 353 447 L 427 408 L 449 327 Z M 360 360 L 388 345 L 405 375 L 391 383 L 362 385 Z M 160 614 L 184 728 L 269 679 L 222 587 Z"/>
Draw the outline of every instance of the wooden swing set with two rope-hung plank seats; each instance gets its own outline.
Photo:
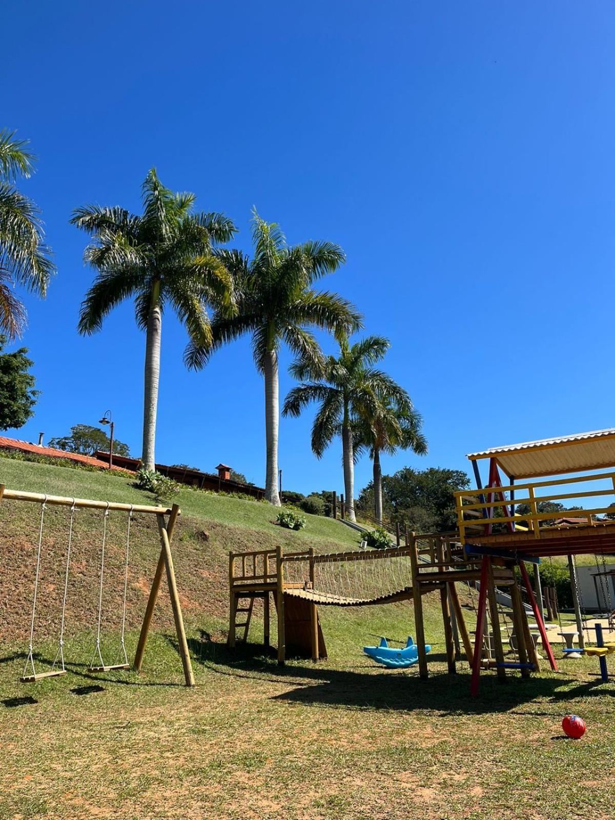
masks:
<path id="1" fill-rule="evenodd" d="M 42 678 L 57 677 L 66 674 L 64 661 L 64 627 L 66 620 L 66 599 L 68 595 L 69 576 L 71 572 L 71 547 L 73 540 L 73 530 L 75 523 L 75 512 L 80 508 L 101 510 L 103 512 L 103 533 L 101 540 L 101 560 L 100 576 L 98 582 L 98 618 L 96 628 L 96 641 L 93 648 L 92 659 L 90 660 L 88 672 L 109 672 L 116 669 L 130 669 L 130 663 L 125 648 L 125 619 L 126 619 L 126 595 L 128 590 L 128 565 L 130 555 L 130 527 L 135 512 L 144 512 L 155 515 L 157 518 L 158 535 L 160 540 L 160 557 L 153 576 L 152 586 L 148 594 L 148 603 L 145 608 L 143 625 L 139 635 L 134 663 L 134 671 L 140 672 L 143 665 L 145 645 L 148 640 L 149 628 L 152 623 L 154 608 L 156 607 L 158 593 L 162 583 L 162 576 L 166 573 L 166 581 L 171 598 L 171 608 L 173 610 L 173 620 L 175 622 L 175 633 L 180 652 L 180 658 L 184 669 L 185 685 L 194 686 L 194 674 L 186 640 L 184 619 L 181 613 L 180 597 L 177 592 L 175 581 L 175 569 L 173 567 L 173 556 L 171 554 L 171 538 L 177 517 L 180 515 L 180 508 L 173 504 L 171 508 L 150 507 L 144 504 L 126 504 L 112 501 L 94 501 L 92 499 L 66 498 L 59 495 L 47 495 L 39 493 L 22 492 L 21 490 L 7 490 L 5 485 L 0 485 L 0 502 L 2 500 L 13 500 L 19 502 L 38 503 L 40 505 L 38 543 L 36 550 L 36 566 L 34 572 L 34 598 L 32 604 L 32 617 L 30 621 L 30 642 L 28 646 L 28 656 L 21 681 L 23 683 L 33 683 Z M 64 569 L 64 585 L 62 597 L 62 616 L 60 622 L 60 634 L 58 638 L 57 654 L 53 660 L 52 667 L 47 672 L 37 672 L 34 665 L 34 623 L 37 610 L 37 599 L 39 596 L 39 573 L 41 564 L 41 551 L 43 549 L 43 531 L 45 511 L 48 505 L 68 507 L 70 509 L 70 520 L 68 523 L 68 535 L 66 542 L 66 563 Z M 109 513 L 113 511 L 126 512 L 127 522 L 125 530 L 125 561 L 124 561 L 124 590 L 123 609 L 121 617 L 121 638 L 119 657 L 113 663 L 106 663 L 103 656 L 101 643 L 101 628 L 103 623 L 103 580 L 105 567 L 105 549 L 107 544 L 107 519 Z"/>

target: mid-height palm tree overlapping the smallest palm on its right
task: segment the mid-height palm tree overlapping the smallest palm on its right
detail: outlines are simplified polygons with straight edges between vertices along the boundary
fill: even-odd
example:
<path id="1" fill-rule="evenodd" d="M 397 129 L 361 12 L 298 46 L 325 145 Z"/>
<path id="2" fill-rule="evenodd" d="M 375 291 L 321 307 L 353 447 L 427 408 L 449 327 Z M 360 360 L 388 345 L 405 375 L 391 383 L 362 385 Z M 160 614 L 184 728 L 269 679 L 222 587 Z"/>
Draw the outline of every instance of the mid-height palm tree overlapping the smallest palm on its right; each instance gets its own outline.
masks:
<path id="1" fill-rule="evenodd" d="M 342 437 L 344 493 L 348 517 L 354 516 L 354 443 L 355 419 L 377 412 L 378 397 L 388 396 L 394 403 L 409 401 L 406 391 L 394 380 L 373 367 L 389 348 L 388 339 L 367 336 L 350 345 L 347 338 L 339 340 L 339 357 L 330 356 L 324 362 L 303 358 L 290 371 L 303 384 L 292 389 L 284 403 L 282 414 L 297 417 L 312 402 L 320 403 L 312 426 L 312 451 L 321 458 L 335 436 Z"/>

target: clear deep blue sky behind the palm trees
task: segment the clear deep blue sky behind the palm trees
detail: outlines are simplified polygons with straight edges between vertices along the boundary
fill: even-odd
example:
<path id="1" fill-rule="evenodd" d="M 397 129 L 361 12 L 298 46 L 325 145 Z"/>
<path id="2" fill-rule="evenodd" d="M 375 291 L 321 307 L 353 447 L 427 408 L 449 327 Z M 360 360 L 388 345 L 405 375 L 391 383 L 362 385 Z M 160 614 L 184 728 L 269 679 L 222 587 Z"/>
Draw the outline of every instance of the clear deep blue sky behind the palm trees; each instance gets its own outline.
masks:
<path id="1" fill-rule="evenodd" d="M 330 239 L 323 283 L 386 335 L 430 453 L 385 471 L 613 426 L 615 8 L 608 2 L 5 2 L 2 122 L 31 140 L 21 185 L 58 274 L 26 303 L 43 390 L 16 435 L 46 440 L 111 409 L 139 454 L 144 335 L 126 304 L 77 335 L 92 279 L 72 208 L 139 209 L 151 166 L 198 206 L 250 208 L 289 242 Z M 162 329 L 157 460 L 264 481 L 264 399 L 248 341 L 185 371 Z M 330 341 L 325 340 L 333 350 Z M 280 395 L 292 386 L 282 356 Z M 280 426 L 288 489 L 342 490 L 312 412 Z M 370 479 L 357 468 L 360 488 Z"/>

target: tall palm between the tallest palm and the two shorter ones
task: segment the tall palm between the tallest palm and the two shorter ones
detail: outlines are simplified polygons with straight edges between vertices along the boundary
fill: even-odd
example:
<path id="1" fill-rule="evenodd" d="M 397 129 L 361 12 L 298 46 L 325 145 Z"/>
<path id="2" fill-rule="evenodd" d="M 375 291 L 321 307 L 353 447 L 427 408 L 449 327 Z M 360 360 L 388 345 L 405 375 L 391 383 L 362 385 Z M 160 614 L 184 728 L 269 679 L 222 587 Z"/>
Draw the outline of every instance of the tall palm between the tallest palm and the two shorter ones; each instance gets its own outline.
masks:
<path id="1" fill-rule="evenodd" d="M 241 335 L 252 334 L 254 361 L 265 380 L 265 498 L 279 507 L 280 347 L 288 345 L 296 356 L 316 366 L 323 357 L 309 328 L 342 334 L 360 327 L 361 321 L 346 299 L 312 288 L 317 279 L 336 271 L 345 261 L 338 245 L 309 241 L 289 247 L 279 225 L 262 220 L 256 210 L 252 238 L 251 259 L 236 250 L 216 251 L 233 280 L 238 312 L 235 317 L 218 312 L 212 322 L 212 344 L 191 341 L 185 361 L 189 367 L 203 367 L 213 350 Z"/>

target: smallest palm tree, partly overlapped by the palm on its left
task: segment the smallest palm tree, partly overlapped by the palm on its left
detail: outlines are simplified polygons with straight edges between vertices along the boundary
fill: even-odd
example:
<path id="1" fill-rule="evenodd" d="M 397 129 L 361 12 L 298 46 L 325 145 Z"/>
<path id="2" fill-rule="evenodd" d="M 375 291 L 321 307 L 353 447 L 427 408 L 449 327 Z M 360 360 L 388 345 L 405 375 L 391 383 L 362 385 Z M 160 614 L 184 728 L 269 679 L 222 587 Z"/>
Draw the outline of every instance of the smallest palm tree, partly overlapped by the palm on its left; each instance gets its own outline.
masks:
<path id="1" fill-rule="evenodd" d="M 367 449 L 373 465 L 374 512 L 382 523 L 382 469 L 380 453 L 394 455 L 398 450 L 412 450 L 426 455 L 427 440 L 421 433 L 421 415 L 407 399 L 394 400 L 389 394 L 376 395 L 376 402 L 366 408 L 355 428 L 358 449 Z"/>

